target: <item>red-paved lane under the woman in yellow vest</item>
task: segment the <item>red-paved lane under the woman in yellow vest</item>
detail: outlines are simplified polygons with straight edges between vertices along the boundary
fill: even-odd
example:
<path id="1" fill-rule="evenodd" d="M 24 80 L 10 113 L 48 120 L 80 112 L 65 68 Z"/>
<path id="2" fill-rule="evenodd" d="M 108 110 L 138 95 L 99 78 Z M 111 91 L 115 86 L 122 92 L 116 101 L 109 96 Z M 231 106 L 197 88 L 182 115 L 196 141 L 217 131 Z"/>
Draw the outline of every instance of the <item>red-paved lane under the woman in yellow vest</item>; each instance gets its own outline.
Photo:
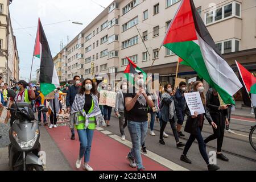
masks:
<path id="1" fill-rule="evenodd" d="M 69 165 L 73 170 L 78 170 L 75 167 L 80 147 L 77 133 L 76 140 L 71 140 L 68 126 L 59 126 L 56 129 L 48 129 L 47 127 L 47 131 L 68 160 Z M 130 151 L 130 148 L 110 138 L 106 132 L 103 134 L 100 131 L 94 131 L 89 162 L 90 166 L 95 171 L 137 171 L 137 168 L 131 168 L 129 162 L 126 160 L 126 155 Z M 142 155 L 142 160 L 147 171 L 170 170 L 147 156 Z M 82 170 L 82 167 L 80 170 Z"/>

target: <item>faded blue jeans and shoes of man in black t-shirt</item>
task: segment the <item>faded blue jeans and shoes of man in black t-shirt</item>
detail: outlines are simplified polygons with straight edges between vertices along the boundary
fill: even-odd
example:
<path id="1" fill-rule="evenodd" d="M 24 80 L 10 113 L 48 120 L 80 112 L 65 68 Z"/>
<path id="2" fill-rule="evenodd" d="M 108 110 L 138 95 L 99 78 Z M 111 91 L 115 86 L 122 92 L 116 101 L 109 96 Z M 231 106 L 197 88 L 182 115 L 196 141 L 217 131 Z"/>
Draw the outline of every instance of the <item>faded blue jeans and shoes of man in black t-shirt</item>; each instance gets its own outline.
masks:
<path id="1" fill-rule="evenodd" d="M 141 147 L 147 135 L 147 121 L 128 121 L 128 130 L 131 135 L 131 143 L 133 143 L 128 158 L 135 159 L 138 169 L 142 169 L 144 167 L 142 165 Z"/>

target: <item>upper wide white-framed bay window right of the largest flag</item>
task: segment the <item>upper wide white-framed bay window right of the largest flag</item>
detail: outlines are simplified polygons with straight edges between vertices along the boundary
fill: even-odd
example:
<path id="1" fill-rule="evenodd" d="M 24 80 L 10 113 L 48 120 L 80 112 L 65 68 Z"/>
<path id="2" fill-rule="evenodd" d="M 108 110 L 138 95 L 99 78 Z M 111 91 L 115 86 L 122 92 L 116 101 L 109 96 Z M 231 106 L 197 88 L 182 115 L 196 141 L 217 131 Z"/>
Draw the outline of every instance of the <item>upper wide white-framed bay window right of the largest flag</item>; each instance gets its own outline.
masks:
<path id="1" fill-rule="evenodd" d="M 208 11 L 205 13 L 205 23 L 210 24 L 233 16 L 241 17 L 240 3 L 232 2 L 215 10 Z"/>

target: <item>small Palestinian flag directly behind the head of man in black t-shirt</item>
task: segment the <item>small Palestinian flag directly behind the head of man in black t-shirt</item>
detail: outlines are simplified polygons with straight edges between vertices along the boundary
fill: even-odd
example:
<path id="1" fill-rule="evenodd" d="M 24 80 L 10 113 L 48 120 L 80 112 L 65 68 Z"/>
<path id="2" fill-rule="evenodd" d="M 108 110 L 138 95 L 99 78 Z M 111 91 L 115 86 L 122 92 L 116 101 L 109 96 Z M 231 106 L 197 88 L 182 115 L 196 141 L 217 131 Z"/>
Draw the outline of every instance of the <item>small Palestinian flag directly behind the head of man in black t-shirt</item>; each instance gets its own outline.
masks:
<path id="1" fill-rule="evenodd" d="M 133 77 L 136 73 L 142 72 L 143 73 L 143 80 L 146 81 L 147 78 L 147 73 L 145 73 L 141 68 L 139 68 L 135 63 L 133 63 L 132 60 L 129 59 L 129 57 L 126 57 L 126 59 L 128 60 L 128 65 L 125 69 L 125 76 L 127 78 L 127 81 L 133 81 L 134 84 L 134 80 Z"/>

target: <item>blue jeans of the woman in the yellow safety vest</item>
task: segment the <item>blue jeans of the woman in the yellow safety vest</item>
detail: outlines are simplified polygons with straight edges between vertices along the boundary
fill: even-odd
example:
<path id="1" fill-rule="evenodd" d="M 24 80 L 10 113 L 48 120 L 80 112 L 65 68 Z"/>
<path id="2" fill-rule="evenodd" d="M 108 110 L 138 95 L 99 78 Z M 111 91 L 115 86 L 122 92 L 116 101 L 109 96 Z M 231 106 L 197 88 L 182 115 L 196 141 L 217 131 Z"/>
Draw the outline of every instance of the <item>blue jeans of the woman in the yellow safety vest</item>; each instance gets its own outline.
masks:
<path id="1" fill-rule="evenodd" d="M 90 148 L 92 147 L 93 131 L 90 129 L 77 130 L 80 141 L 79 158 L 84 156 L 84 162 L 88 163 L 90 160 Z"/>

